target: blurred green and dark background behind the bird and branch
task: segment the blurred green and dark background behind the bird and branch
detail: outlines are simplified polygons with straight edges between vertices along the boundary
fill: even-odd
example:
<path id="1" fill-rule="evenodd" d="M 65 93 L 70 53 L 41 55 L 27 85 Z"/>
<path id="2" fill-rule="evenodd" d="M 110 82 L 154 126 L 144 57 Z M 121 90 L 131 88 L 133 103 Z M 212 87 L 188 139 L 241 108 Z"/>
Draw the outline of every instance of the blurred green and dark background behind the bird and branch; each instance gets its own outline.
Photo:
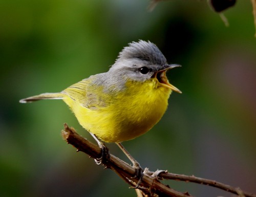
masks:
<path id="1" fill-rule="evenodd" d="M 123 145 L 150 170 L 168 169 L 256 192 L 256 38 L 251 2 L 1 0 L 0 196 L 136 196 L 114 172 L 62 140 L 63 123 L 93 140 L 62 101 L 20 104 L 106 72 L 127 43 L 150 40 L 169 63 L 174 93 L 162 120 Z M 127 161 L 108 144 L 111 153 Z M 128 162 L 128 161 L 127 161 Z M 164 181 L 195 196 L 231 196 Z"/>

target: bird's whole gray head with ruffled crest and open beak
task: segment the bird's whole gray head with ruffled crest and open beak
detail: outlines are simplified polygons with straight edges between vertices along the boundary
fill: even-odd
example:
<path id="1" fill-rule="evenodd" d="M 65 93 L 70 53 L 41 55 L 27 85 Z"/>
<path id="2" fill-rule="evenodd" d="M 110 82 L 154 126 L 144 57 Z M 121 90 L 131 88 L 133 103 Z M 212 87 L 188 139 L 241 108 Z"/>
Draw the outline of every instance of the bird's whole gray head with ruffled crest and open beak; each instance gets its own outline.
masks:
<path id="1" fill-rule="evenodd" d="M 181 93 L 177 87 L 168 82 L 166 77 L 166 71 L 175 67 L 181 67 L 181 65 L 168 64 L 154 43 L 139 40 L 139 42 L 129 43 L 129 46 L 119 53 L 110 72 L 126 79 L 141 82 L 155 78 L 160 86 Z"/>

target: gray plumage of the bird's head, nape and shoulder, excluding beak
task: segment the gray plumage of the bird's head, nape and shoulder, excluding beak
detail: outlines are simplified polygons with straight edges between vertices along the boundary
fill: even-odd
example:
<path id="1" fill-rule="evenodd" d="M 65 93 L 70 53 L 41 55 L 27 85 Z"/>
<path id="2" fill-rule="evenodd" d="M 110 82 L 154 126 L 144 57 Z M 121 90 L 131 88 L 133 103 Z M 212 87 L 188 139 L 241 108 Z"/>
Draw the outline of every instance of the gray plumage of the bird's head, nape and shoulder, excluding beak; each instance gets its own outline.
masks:
<path id="1" fill-rule="evenodd" d="M 168 66 L 165 57 L 154 43 L 139 40 L 129 43 L 119 53 L 118 58 L 106 73 L 91 76 L 91 82 L 97 85 L 104 84 L 105 92 L 123 90 L 127 80 L 146 81 L 155 72 L 166 69 Z M 148 69 L 146 73 L 141 68 Z"/>

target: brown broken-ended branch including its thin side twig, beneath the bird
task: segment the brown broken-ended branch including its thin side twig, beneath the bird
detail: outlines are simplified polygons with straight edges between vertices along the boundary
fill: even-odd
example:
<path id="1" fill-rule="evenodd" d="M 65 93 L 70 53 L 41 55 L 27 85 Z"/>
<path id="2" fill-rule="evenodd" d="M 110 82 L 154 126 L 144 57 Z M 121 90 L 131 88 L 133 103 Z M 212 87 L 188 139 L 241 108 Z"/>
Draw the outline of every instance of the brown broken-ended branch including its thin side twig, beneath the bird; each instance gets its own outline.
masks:
<path id="1" fill-rule="evenodd" d="M 72 127 L 70 128 L 67 124 L 65 124 L 65 130 L 62 130 L 61 133 L 63 139 L 65 139 L 69 144 L 72 144 L 74 147 L 76 147 L 77 151 L 82 151 L 94 159 L 99 158 L 99 156 L 101 155 L 101 150 L 97 145 L 78 135 L 75 129 Z M 104 162 L 102 164 L 105 166 L 105 168 L 110 168 L 115 171 L 121 179 L 123 179 L 131 186 L 135 186 L 138 182 L 138 179 L 134 178 L 135 169 L 131 165 L 120 160 L 114 155 L 110 155 L 110 159 L 108 160 L 108 162 Z M 140 193 L 140 195 L 142 196 L 156 196 L 155 194 L 157 194 L 158 196 L 191 197 L 191 195 L 187 192 L 182 193 L 176 191 L 158 181 L 158 179 L 170 179 L 209 185 L 231 193 L 238 194 L 239 196 L 256 197 L 256 195 L 253 193 L 248 193 L 241 190 L 240 188 L 234 188 L 213 180 L 202 179 L 195 176 L 185 176 L 182 174 L 168 173 L 167 171 L 163 170 L 157 172 L 145 171 L 142 183 L 138 188 L 141 190 L 141 192 L 136 192 Z M 154 174 L 156 174 L 156 176 L 154 176 Z"/>

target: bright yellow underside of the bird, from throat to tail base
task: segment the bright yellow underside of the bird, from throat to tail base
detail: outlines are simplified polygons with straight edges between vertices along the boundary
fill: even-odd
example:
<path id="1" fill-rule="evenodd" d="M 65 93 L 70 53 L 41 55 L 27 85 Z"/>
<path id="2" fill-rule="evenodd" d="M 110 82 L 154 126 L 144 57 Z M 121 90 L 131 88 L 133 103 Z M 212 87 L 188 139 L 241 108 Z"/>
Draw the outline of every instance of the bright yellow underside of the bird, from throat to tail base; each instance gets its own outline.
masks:
<path id="1" fill-rule="evenodd" d="M 171 90 L 159 86 L 156 79 L 126 83 L 127 88 L 115 101 L 97 110 L 90 110 L 69 98 L 79 123 L 105 142 L 134 139 L 150 130 L 163 116 Z"/>

